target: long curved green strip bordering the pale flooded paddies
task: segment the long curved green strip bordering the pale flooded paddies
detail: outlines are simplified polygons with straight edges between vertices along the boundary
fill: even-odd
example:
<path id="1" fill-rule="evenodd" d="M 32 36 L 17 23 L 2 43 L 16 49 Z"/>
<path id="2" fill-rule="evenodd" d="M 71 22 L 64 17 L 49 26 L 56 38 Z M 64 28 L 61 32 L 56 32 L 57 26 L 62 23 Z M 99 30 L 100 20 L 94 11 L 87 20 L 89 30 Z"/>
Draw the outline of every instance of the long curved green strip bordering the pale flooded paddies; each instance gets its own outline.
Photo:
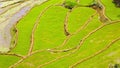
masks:
<path id="1" fill-rule="evenodd" d="M 27 54 L 30 45 L 30 36 L 33 25 L 39 13 L 47 6 L 56 3 L 56 1 L 48 1 L 42 5 L 35 6 L 22 20 L 17 24 L 18 28 L 18 42 L 16 47 L 11 51 L 19 54 Z M 36 12 L 37 11 L 37 12 Z M 24 25 L 23 25 L 24 24 Z M 24 40 L 23 40 L 24 39 Z"/>

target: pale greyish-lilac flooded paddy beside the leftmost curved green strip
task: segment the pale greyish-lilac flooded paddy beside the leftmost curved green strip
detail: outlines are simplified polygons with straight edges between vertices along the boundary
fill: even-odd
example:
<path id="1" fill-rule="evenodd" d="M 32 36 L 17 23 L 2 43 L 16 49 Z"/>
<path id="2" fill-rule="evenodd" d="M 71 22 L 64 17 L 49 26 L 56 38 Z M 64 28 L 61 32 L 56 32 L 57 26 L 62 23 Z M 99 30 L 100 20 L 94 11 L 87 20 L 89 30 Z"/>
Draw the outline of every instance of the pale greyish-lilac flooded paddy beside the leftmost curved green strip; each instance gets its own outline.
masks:
<path id="1" fill-rule="evenodd" d="M 1 16 L 0 21 L 0 52 L 7 52 L 9 51 L 10 44 L 11 44 L 11 32 L 10 29 L 19 21 L 26 13 L 35 5 L 40 4 L 46 0 L 42 1 L 27 1 L 23 3 L 24 5 L 17 7 L 15 12 L 6 12 L 5 15 Z M 14 9 L 15 10 L 15 9 Z M 2 11 L 2 10 L 1 10 Z"/>

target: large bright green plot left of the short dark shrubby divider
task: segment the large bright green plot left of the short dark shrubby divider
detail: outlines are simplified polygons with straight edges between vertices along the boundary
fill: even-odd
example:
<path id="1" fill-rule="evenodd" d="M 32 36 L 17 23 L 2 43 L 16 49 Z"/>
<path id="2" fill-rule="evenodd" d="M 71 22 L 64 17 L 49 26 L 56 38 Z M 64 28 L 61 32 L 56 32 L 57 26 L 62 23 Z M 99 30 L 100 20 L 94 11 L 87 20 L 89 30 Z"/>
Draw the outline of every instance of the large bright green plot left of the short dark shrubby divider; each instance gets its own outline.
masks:
<path id="1" fill-rule="evenodd" d="M 57 47 L 63 42 L 63 25 L 67 11 L 63 7 L 53 6 L 44 13 L 35 32 L 34 50 Z"/>

